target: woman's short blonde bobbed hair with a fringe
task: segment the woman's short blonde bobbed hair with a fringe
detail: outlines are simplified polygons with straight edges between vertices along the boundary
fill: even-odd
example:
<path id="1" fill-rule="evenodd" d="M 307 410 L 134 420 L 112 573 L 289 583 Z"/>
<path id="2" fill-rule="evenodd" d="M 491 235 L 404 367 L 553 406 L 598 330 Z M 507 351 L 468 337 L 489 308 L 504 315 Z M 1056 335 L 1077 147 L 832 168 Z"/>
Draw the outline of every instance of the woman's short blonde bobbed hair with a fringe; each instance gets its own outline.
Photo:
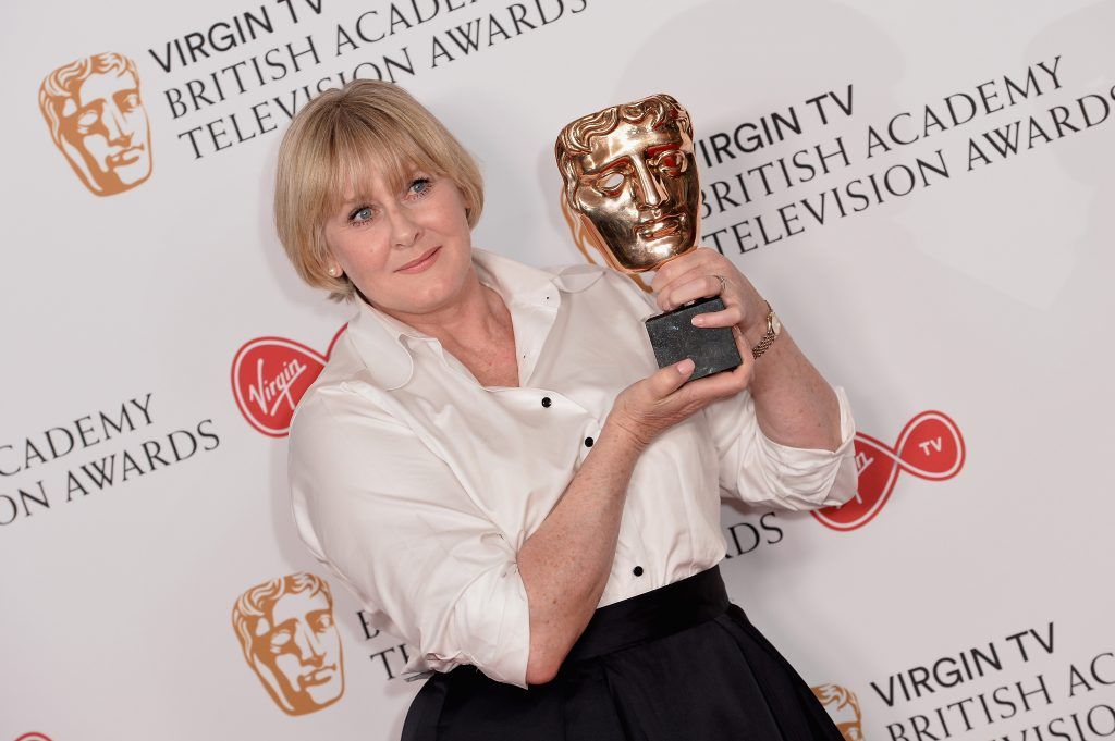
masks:
<path id="1" fill-rule="evenodd" d="M 279 241 L 303 281 L 351 301 L 347 275 L 327 272 L 324 222 L 349 187 L 367 173 L 385 176 L 401 191 L 411 168 L 445 177 L 460 189 L 469 228 L 484 208 L 479 168 L 460 143 L 406 90 L 391 82 L 352 80 L 326 90 L 291 121 L 279 147 L 274 218 Z M 370 298 L 370 296 L 369 296 Z"/>

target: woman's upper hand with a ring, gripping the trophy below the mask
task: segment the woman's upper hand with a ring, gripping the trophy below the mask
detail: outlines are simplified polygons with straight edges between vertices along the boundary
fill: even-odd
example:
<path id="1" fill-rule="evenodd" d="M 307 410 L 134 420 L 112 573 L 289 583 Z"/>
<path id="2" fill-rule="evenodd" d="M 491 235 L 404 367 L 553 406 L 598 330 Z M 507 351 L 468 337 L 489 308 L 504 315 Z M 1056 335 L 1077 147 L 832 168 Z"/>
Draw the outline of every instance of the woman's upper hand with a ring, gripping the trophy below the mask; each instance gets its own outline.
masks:
<path id="1" fill-rule="evenodd" d="M 658 270 L 651 289 L 662 311 L 719 295 L 725 310 L 698 314 L 694 318 L 696 326 L 738 326 L 752 344 L 766 334 L 766 302 L 731 261 L 716 250 L 698 247 L 669 261 Z M 739 354 L 750 360 L 749 347 Z"/>

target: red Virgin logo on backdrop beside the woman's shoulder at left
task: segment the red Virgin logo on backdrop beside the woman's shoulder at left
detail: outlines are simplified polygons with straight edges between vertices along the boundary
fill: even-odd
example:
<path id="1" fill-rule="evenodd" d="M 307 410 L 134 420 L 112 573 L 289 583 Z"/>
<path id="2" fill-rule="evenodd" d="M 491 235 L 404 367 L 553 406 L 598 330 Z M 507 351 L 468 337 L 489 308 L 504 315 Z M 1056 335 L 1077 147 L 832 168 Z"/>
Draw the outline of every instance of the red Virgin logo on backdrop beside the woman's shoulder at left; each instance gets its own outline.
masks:
<path id="1" fill-rule="evenodd" d="M 232 360 L 232 394 L 248 423 L 263 435 L 287 437 L 294 407 L 326 367 L 345 326 L 320 354 L 301 342 L 263 337 L 245 342 Z"/>

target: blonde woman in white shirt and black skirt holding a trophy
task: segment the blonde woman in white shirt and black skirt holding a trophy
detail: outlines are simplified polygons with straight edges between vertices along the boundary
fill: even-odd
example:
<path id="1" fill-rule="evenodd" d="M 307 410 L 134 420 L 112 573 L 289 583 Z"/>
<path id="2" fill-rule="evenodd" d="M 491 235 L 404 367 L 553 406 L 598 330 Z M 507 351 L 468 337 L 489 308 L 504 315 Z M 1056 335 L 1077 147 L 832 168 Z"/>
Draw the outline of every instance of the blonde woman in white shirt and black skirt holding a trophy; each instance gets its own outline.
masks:
<path id="1" fill-rule="evenodd" d="M 707 325 L 747 359 L 686 383 L 630 281 L 474 250 L 482 207 L 472 158 L 391 85 L 324 92 L 280 149 L 288 255 L 359 311 L 292 421 L 294 517 L 435 671 L 404 739 L 838 739 L 716 565 L 721 489 L 853 494 L 843 391 L 785 331 L 753 360 L 767 304 L 717 253 L 653 282 L 663 310 L 719 293 Z"/>

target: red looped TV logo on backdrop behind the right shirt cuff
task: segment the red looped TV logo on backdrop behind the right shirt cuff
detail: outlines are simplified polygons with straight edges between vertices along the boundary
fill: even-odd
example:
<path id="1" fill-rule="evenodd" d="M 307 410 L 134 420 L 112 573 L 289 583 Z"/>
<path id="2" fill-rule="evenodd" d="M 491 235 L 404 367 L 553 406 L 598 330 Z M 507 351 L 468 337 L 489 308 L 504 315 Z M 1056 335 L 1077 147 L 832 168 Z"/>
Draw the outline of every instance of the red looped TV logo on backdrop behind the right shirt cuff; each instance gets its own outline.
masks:
<path id="1" fill-rule="evenodd" d="M 964 440 L 957 423 L 939 411 L 923 411 L 902 428 L 891 448 L 870 435 L 855 435 L 857 493 L 840 507 L 812 514 L 834 530 L 854 530 L 870 523 L 894 490 L 899 474 L 941 481 L 956 476 L 964 465 Z"/>

